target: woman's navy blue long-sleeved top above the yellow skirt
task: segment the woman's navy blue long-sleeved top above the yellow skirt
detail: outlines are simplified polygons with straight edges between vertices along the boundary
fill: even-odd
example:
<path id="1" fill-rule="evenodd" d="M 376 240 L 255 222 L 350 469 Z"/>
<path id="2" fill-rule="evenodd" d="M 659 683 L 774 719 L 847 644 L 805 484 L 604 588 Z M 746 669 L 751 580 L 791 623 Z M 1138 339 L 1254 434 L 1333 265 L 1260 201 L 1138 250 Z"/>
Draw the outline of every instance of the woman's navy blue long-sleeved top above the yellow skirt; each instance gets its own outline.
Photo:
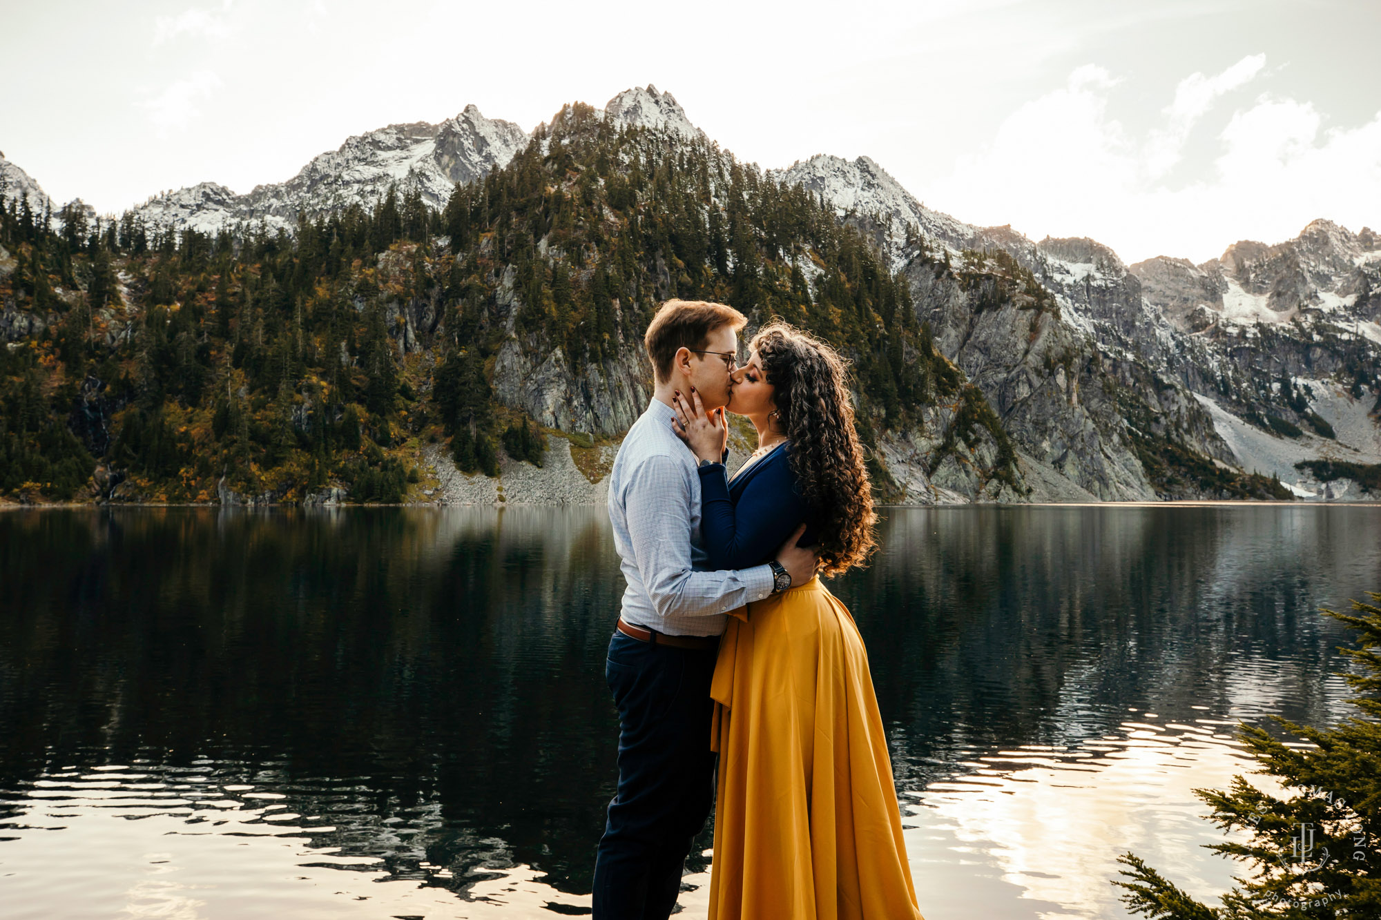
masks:
<path id="1" fill-rule="evenodd" d="M 790 443 L 728 481 L 722 464 L 700 467 L 700 535 L 711 571 L 749 569 L 776 557 L 802 521 L 812 521 L 791 472 Z M 813 528 L 797 540 L 815 543 Z"/>

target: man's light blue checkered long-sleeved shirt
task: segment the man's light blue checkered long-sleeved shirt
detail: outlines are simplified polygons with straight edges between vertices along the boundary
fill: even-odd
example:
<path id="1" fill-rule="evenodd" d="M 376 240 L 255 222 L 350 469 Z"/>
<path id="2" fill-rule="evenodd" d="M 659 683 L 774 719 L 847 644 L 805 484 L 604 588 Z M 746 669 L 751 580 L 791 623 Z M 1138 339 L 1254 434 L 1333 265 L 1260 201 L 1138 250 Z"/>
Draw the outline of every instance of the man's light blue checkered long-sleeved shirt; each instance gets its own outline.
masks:
<path id="1" fill-rule="evenodd" d="M 609 521 L 623 577 L 623 619 L 667 635 L 720 635 L 725 612 L 772 594 L 772 568 L 704 572 L 696 459 L 653 399 L 609 474 Z"/>

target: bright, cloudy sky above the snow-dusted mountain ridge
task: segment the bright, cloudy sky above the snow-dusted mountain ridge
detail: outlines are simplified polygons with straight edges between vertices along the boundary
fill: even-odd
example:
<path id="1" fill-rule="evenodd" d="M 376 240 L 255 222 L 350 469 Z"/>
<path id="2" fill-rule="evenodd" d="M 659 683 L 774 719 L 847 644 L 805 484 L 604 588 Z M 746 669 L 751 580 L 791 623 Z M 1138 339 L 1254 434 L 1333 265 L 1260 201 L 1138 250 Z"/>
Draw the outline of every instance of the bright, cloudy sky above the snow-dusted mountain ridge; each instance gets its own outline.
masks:
<path id="1" fill-rule="evenodd" d="M 1381 231 L 1375 0 L 0 4 L 0 152 L 101 213 L 652 83 L 743 160 L 870 156 L 961 221 L 1127 262 Z"/>

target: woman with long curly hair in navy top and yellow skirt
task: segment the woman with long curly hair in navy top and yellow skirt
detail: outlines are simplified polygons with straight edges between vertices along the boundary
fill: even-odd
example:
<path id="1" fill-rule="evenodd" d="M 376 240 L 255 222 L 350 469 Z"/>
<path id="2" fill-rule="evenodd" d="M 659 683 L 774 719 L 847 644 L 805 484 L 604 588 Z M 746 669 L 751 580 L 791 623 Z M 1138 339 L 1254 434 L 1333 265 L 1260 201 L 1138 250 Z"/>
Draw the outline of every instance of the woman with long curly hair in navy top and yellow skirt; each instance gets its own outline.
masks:
<path id="1" fill-rule="evenodd" d="M 724 412 L 677 394 L 700 466 L 717 569 L 772 558 L 802 522 L 820 571 L 874 546 L 873 501 L 844 362 L 786 323 L 754 336 L 728 410 L 758 431 L 732 483 Z M 920 920 L 867 652 L 819 577 L 731 613 L 711 696 L 720 751 L 710 920 Z"/>

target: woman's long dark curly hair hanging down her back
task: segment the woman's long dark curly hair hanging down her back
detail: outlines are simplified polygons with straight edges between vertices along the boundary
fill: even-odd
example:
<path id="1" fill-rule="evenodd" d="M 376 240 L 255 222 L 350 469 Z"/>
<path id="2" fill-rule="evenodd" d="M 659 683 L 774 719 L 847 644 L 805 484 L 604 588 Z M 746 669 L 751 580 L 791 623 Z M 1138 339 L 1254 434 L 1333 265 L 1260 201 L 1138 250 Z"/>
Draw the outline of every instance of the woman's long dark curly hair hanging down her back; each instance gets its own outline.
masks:
<path id="1" fill-rule="evenodd" d="M 820 575 L 834 576 L 877 546 L 873 490 L 853 430 L 845 361 L 819 338 L 775 320 L 751 347 L 772 384 L 773 428 L 791 441 L 791 471 L 815 512 Z"/>

